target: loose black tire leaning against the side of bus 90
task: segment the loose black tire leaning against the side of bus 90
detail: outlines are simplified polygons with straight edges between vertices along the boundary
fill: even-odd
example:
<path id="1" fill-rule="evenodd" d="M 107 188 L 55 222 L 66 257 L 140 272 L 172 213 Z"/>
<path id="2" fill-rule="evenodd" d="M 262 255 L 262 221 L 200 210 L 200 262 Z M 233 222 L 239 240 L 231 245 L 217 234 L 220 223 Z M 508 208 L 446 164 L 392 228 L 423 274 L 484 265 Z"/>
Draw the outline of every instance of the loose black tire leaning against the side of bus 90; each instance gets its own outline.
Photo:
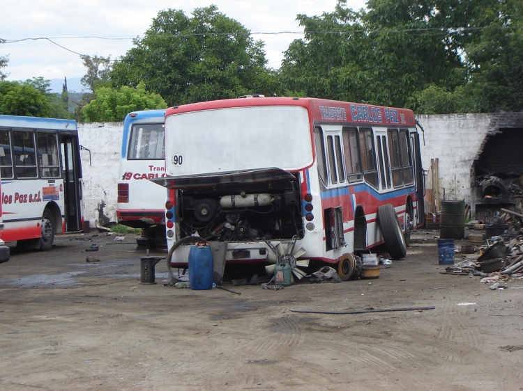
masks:
<path id="1" fill-rule="evenodd" d="M 407 255 L 407 244 L 403 236 L 400 221 L 391 204 L 381 205 L 378 208 L 378 223 L 385 246 L 393 260 L 400 260 Z"/>

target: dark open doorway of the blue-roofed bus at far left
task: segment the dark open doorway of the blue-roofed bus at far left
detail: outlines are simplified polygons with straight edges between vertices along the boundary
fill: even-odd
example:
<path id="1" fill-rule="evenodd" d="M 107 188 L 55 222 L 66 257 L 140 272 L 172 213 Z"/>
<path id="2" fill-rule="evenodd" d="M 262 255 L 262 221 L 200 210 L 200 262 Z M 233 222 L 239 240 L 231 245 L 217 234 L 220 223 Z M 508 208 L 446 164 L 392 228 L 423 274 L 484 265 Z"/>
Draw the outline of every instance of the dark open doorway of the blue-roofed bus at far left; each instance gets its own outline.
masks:
<path id="1" fill-rule="evenodd" d="M 76 136 L 62 134 L 60 136 L 60 146 L 62 152 L 63 204 L 65 207 L 66 232 L 77 232 L 82 230 L 78 139 Z"/>

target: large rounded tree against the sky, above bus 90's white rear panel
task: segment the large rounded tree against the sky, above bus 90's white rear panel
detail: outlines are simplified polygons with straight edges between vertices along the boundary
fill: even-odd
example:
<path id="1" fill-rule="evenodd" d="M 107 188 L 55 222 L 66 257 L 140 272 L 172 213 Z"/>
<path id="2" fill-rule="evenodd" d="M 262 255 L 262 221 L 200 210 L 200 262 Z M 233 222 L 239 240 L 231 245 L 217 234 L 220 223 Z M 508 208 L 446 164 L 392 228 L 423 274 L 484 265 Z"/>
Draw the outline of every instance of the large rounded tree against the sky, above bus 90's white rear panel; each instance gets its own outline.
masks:
<path id="1" fill-rule="evenodd" d="M 112 83 L 134 87 L 144 81 L 169 105 L 278 90 L 264 43 L 216 6 L 196 8 L 192 17 L 162 10 L 134 45 L 114 63 Z"/>

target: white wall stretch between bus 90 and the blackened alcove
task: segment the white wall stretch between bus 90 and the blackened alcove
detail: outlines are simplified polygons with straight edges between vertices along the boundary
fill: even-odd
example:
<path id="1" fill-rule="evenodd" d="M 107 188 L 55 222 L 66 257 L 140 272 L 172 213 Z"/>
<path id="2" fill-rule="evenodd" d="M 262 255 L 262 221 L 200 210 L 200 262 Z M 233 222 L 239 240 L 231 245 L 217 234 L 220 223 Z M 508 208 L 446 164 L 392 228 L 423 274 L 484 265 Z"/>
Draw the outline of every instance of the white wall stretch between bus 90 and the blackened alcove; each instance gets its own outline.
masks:
<path id="1" fill-rule="evenodd" d="M 471 202 L 470 169 L 494 114 L 416 115 L 425 129 L 421 136 L 423 168 L 428 170 L 426 187 L 432 190 L 431 159 L 439 159 L 440 200 Z M 427 192 L 427 198 L 432 195 Z M 426 199 L 425 205 L 431 200 Z M 432 212 L 432 211 L 427 211 Z"/>

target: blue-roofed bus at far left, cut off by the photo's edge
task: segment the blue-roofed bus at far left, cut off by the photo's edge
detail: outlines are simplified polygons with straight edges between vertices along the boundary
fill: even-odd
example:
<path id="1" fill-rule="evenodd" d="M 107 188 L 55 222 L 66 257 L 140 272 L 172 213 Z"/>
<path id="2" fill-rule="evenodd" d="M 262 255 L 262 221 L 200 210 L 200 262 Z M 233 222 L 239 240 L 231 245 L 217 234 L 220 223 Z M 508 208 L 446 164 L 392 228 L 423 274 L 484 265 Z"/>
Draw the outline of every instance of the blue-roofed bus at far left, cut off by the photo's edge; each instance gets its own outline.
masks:
<path id="1" fill-rule="evenodd" d="M 82 230 L 82 166 L 74 120 L 0 115 L 3 241 L 49 250 Z"/>

